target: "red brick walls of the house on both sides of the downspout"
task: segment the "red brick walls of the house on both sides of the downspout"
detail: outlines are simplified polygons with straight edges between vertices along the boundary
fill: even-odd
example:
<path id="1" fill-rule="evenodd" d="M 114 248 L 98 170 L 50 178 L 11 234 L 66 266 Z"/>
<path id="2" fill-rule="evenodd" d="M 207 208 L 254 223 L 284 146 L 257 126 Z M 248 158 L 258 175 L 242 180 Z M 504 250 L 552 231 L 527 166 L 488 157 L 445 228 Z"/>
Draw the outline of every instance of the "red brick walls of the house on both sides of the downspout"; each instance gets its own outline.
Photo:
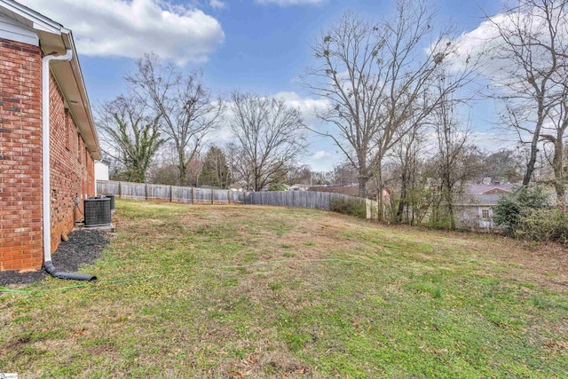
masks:
<path id="1" fill-rule="evenodd" d="M 43 264 L 41 89 L 40 49 L 0 39 L 0 271 L 36 270 Z M 50 100 L 55 251 L 61 233 L 83 218 L 75 215 L 75 196 L 92 196 L 95 189 L 94 162 L 53 77 Z"/>

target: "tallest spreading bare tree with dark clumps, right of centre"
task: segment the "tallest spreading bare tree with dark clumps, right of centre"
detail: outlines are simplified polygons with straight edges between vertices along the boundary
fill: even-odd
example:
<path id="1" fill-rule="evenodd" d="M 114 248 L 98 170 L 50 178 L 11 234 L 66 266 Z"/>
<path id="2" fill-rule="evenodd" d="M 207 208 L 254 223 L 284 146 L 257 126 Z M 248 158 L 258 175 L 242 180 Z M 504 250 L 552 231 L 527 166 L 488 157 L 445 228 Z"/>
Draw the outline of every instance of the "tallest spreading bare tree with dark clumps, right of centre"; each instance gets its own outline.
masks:
<path id="1" fill-rule="evenodd" d="M 382 187 L 383 157 L 406 134 L 401 132 L 406 121 L 427 116 L 438 104 L 426 92 L 454 43 L 449 28 L 434 32 L 430 9 L 425 1 L 398 0 L 395 17 L 379 23 L 347 12 L 312 46 L 319 65 L 304 80 L 330 101 L 319 117 L 334 127 L 333 132 L 314 131 L 333 138 L 358 170 L 360 196 L 367 197 L 367 182 L 376 171 Z M 461 74 L 445 90 L 462 85 L 472 66 L 473 59 L 467 59 L 456 67 Z"/>

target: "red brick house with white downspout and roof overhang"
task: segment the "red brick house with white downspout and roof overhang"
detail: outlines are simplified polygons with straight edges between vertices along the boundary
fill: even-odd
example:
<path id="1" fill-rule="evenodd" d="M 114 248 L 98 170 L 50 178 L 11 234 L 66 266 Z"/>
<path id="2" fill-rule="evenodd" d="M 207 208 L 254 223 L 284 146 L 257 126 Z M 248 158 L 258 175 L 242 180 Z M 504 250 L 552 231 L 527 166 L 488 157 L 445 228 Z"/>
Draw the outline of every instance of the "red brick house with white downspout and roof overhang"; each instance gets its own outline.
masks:
<path id="1" fill-rule="evenodd" d="M 99 159 L 71 31 L 0 0 L 0 271 L 51 261 Z"/>

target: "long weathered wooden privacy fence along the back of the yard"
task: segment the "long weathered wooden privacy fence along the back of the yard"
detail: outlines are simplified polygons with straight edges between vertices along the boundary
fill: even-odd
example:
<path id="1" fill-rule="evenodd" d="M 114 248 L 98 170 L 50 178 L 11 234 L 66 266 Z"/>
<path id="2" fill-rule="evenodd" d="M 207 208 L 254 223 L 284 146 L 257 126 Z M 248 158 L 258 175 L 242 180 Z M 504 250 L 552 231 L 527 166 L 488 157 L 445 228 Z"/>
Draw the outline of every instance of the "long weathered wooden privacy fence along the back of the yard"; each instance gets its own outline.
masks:
<path id="1" fill-rule="evenodd" d="M 341 193 L 311 191 L 236 192 L 217 188 L 163 186 L 97 180 L 97 193 L 122 199 L 161 200 L 186 204 L 249 204 L 331 210 L 362 218 L 376 213 L 376 201 Z"/>

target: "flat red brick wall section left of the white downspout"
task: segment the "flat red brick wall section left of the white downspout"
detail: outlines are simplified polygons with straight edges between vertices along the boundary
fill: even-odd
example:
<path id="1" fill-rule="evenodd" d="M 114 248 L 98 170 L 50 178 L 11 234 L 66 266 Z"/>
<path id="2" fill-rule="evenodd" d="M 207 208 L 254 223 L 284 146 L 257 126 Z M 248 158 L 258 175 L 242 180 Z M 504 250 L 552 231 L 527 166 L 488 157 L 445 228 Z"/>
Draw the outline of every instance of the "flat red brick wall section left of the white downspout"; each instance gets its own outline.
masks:
<path id="1" fill-rule="evenodd" d="M 40 49 L 0 39 L 0 271 L 43 262 L 41 88 Z"/>

